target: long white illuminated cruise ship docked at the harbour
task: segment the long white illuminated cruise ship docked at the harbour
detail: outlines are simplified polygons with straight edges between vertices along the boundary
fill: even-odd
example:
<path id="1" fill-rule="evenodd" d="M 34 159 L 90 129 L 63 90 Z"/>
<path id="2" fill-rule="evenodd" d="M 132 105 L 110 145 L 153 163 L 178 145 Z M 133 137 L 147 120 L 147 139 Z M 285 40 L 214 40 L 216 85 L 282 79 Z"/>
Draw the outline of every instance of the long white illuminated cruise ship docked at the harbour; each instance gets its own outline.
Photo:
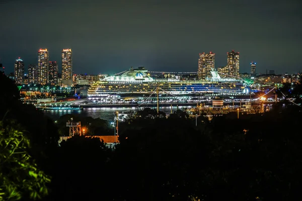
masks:
<path id="1" fill-rule="evenodd" d="M 103 78 L 93 83 L 89 97 L 104 97 L 109 95 L 152 94 L 159 87 L 159 93 L 171 95 L 243 95 L 249 94 L 249 88 L 242 80 L 220 78 L 212 71 L 212 78 L 207 80 L 180 80 L 178 76 L 165 79 L 154 79 L 147 74 L 147 69 L 130 68 L 121 75 Z"/>

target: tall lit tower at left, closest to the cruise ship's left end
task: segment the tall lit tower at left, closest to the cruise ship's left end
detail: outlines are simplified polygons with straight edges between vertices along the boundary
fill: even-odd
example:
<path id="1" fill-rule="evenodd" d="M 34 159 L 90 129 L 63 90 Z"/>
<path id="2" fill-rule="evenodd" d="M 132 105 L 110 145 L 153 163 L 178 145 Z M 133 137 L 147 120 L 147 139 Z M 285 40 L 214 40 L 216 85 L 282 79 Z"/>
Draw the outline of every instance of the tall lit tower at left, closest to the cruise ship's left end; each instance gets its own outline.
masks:
<path id="1" fill-rule="evenodd" d="M 71 49 L 62 50 L 62 79 L 72 80 L 72 51 Z"/>

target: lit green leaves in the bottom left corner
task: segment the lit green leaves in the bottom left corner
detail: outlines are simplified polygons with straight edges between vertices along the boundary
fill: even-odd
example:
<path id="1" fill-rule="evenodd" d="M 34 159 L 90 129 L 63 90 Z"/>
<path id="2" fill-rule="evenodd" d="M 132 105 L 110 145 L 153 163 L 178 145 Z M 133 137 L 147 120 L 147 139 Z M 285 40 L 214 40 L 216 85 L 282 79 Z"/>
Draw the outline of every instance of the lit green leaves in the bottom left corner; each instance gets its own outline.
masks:
<path id="1" fill-rule="evenodd" d="M 38 168 L 29 147 L 22 131 L 0 122 L 0 200 L 40 199 L 48 194 L 50 177 Z"/>

